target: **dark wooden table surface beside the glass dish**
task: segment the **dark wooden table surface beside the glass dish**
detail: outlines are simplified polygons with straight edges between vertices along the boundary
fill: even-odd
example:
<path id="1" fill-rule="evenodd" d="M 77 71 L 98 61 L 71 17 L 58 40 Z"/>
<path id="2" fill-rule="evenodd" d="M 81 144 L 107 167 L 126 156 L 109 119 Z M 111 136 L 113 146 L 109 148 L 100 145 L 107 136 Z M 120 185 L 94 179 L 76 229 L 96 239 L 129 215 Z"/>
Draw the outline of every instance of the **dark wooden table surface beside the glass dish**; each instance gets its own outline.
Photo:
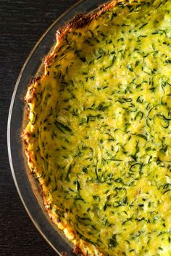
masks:
<path id="1" fill-rule="evenodd" d="M 0 0 L 0 255 L 54 256 L 19 199 L 7 155 L 7 116 L 17 76 L 46 28 L 77 0 Z"/>

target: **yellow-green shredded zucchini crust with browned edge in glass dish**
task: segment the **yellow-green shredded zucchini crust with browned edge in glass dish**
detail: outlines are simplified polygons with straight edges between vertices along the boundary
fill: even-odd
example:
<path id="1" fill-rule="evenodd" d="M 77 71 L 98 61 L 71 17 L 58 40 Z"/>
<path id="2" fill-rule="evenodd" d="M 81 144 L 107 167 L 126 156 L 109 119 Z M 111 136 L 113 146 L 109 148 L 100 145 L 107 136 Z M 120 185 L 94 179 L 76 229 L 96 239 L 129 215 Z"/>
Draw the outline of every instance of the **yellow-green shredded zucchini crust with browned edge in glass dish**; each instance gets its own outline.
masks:
<path id="1" fill-rule="evenodd" d="M 57 31 L 25 95 L 28 166 L 76 255 L 171 255 L 171 0 Z"/>

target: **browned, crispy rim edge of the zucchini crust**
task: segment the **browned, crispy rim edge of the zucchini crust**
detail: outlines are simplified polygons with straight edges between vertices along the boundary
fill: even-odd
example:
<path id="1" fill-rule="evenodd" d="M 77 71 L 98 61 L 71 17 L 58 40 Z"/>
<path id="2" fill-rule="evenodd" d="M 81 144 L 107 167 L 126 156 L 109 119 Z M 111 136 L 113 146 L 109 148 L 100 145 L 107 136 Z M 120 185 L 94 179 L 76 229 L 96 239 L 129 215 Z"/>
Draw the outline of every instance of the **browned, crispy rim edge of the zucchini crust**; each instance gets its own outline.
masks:
<path id="1" fill-rule="evenodd" d="M 59 28 L 59 30 L 56 33 L 56 40 L 57 43 L 55 44 L 55 46 L 52 48 L 51 52 L 49 53 L 49 55 L 47 55 L 45 57 L 45 59 L 43 60 L 43 68 L 42 68 L 42 76 L 39 77 L 35 77 L 30 81 L 30 84 L 28 85 L 28 92 L 27 95 L 25 95 L 25 103 L 26 103 L 26 107 L 25 107 L 25 119 L 27 119 L 28 121 L 28 117 L 30 114 L 30 108 L 28 108 L 28 104 L 33 102 L 33 99 L 36 97 L 36 87 L 38 87 L 38 81 L 43 79 L 43 77 L 46 76 L 46 67 L 47 65 L 49 65 L 49 63 L 51 62 L 51 60 L 54 57 L 54 54 L 56 52 L 56 49 L 60 46 L 60 44 L 62 43 L 62 39 L 64 38 L 64 36 L 69 33 L 70 31 L 72 31 L 72 29 L 75 28 L 82 28 L 83 26 L 88 25 L 89 23 L 91 23 L 92 20 L 94 20 L 96 17 L 99 17 L 103 12 L 107 11 L 108 9 L 111 9 L 112 7 L 116 6 L 118 3 L 125 3 L 125 0 L 120 1 L 120 0 L 112 0 L 109 1 L 109 3 L 107 4 L 102 4 L 101 6 L 99 6 L 98 9 L 96 9 L 93 12 L 90 12 L 88 14 L 81 14 L 79 13 L 78 15 L 75 15 L 75 17 L 73 17 L 68 23 L 66 23 L 65 25 L 62 26 L 62 28 Z M 36 86 L 34 86 L 35 84 L 37 84 Z M 34 157 L 33 152 L 28 150 L 28 145 L 29 145 L 29 138 L 31 136 L 31 134 L 29 132 L 25 132 L 25 127 L 26 127 L 26 123 L 27 121 L 25 121 L 25 123 L 23 123 L 23 127 L 22 127 L 22 134 L 21 134 L 21 139 L 22 139 L 22 144 L 23 144 L 23 149 L 25 152 L 25 158 L 28 164 L 28 169 L 30 169 L 31 172 L 33 172 L 33 170 L 35 170 L 37 172 L 37 167 L 35 166 L 35 164 L 33 163 L 32 158 Z M 65 227 L 60 220 L 54 220 L 54 216 L 51 214 L 50 209 L 49 209 L 49 204 L 47 204 L 46 201 L 46 194 L 43 192 L 43 187 L 41 184 L 39 184 L 41 187 L 41 192 L 42 192 L 42 197 L 43 197 L 43 204 L 45 206 L 46 212 L 48 213 L 52 223 L 54 223 L 55 225 L 57 225 L 57 227 L 61 230 L 64 231 Z M 72 235 L 75 237 L 75 239 L 78 239 L 78 235 L 75 233 L 74 230 L 69 230 L 70 233 L 72 233 Z M 85 247 L 88 247 L 88 243 L 86 241 L 83 241 L 83 239 L 80 239 L 80 241 L 82 242 L 82 244 Z M 94 247 L 94 249 L 96 249 L 96 247 Z M 76 243 L 74 248 L 73 248 L 73 253 L 75 255 L 81 255 L 81 256 L 88 256 L 89 253 L 87 254 L 86 252 L 83 251 L 82 248 L 80 248 L 80 243 Z M 63 253 L 65 255 L 65 253 Z M 96 249 L 96 255 L 99 256 L 104 256 L 104 254 L 102 252 L 99 252 L 99 249 Z"/>

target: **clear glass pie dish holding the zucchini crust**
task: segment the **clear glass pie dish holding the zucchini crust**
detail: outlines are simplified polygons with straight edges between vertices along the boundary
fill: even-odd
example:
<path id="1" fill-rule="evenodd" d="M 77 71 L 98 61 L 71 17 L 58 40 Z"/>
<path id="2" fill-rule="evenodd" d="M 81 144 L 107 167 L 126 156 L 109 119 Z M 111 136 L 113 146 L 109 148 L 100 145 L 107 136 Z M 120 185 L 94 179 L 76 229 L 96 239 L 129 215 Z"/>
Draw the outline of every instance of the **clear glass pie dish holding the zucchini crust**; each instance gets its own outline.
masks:
<path id="1" fill-rule="evenodd" d="M 88 13 L 104 4 L 104 0 L 82 0 L 78 1 L 72 8 L 68 9 L 59 17 L 49 29 L 41 36 L 36 46 L 25 61 L 20 71 L 17 83 L 14 87 L 12 101 L 9 108 L 9 119 L 7 127 L 7 143 L 9 163 L 12 169 L 12 176 L 19 193 L 22 204 L 28 212 L 30 219 L 36 228 L 51 247 L 62 255 L 73 255 L 72 244 L 65 239 L 63 233 L 57 229 L 47 215 L 41 196 L 40 188 L 25 162 L 22 141 L 20 138 L 23 127 L 23 116 L 25 113 L 24 96 L 30 80 L 41 71 L 43 57 L 45 57 L 55 43 L 55 33 L 67 21 L 78 13 Z"/>

